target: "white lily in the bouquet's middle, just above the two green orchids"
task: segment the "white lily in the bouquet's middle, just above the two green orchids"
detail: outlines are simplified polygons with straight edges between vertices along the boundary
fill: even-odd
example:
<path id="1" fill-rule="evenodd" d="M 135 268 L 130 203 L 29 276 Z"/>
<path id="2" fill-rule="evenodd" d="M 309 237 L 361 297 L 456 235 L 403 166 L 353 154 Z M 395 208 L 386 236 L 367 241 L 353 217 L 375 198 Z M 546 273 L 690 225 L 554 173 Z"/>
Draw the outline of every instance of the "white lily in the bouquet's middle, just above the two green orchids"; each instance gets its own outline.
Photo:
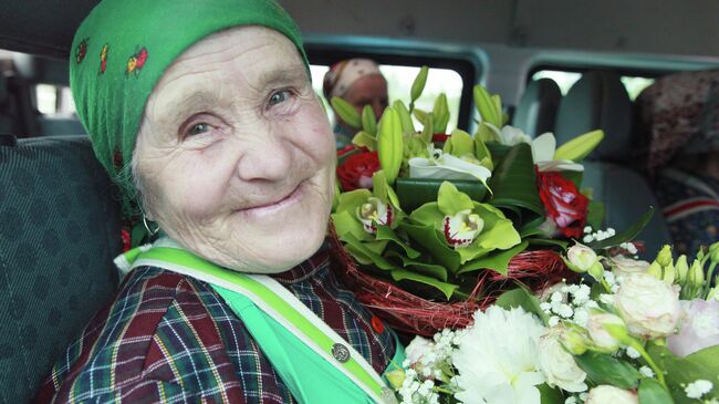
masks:
<path id="1" fill-rule="evenodd" d="M 481 166 L 473 156 L 457 157 L 429 146 L 431 157 L 413 157 L 409 159 L 410 178 L 436 179 L 479 179 L 487 183 L 492 176 L 487 167 Z"/>

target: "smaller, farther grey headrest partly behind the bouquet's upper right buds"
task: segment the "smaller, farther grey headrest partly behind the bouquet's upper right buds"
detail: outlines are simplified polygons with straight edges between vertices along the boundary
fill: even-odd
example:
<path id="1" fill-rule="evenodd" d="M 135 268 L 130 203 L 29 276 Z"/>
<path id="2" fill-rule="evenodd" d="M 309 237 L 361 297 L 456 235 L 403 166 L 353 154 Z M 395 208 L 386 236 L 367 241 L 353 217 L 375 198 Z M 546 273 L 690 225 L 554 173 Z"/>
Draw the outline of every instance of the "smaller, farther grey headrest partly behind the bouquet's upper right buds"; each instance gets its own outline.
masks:
<path id="1" fill-rule="evenodd" d="M 530 82 L 519 101 L 512 125 L 534 138 L 544 132 L 554 132 L 556 110 L 562 91 L 552 79 Z"/>

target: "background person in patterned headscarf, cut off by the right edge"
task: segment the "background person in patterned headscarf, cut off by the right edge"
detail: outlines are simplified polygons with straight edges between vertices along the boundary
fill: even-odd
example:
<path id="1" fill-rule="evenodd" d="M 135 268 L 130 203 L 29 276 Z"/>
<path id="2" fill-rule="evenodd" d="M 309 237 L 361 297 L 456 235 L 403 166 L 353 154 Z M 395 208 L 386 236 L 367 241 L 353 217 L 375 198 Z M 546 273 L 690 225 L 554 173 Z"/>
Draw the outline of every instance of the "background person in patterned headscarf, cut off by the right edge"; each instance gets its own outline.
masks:
<path id="1" fill-rule="evenodd" d="M 657 80 L 637 99 L 645 169 L 675 252 L 719 239 L 719 70 Z"/>

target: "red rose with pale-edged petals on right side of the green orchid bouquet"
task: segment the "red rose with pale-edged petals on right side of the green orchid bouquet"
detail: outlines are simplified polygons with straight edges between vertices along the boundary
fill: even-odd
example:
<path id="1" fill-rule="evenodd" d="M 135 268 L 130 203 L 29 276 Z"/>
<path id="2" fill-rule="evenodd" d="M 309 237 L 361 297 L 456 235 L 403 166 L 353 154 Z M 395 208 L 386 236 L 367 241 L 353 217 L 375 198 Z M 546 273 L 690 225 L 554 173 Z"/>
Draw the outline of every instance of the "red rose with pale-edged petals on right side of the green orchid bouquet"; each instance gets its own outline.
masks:
<path id="1" fill-rule="evenodd" d="M 565 237 L 580 238 L 586 225 L 590 199 L 580 194 L 574 183 L 559 173 L 538 173 L 540 199 L 546 217 Z"/>

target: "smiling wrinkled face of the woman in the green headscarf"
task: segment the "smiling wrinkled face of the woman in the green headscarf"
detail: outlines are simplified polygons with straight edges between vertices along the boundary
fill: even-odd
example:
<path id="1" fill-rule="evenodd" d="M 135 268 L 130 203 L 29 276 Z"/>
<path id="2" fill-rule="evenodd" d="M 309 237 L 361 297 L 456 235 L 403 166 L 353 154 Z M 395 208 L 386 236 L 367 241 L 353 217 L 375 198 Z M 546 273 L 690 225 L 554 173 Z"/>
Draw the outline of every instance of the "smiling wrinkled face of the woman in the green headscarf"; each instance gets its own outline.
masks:
<path id="1" fill-rule="evenodd" d="M 134 158 L 149 218 L 216 263 L 281 272 L 324 239 L 334 138 L 277 31 L 228 30 L 178 58 L 147 102 Z"/>

